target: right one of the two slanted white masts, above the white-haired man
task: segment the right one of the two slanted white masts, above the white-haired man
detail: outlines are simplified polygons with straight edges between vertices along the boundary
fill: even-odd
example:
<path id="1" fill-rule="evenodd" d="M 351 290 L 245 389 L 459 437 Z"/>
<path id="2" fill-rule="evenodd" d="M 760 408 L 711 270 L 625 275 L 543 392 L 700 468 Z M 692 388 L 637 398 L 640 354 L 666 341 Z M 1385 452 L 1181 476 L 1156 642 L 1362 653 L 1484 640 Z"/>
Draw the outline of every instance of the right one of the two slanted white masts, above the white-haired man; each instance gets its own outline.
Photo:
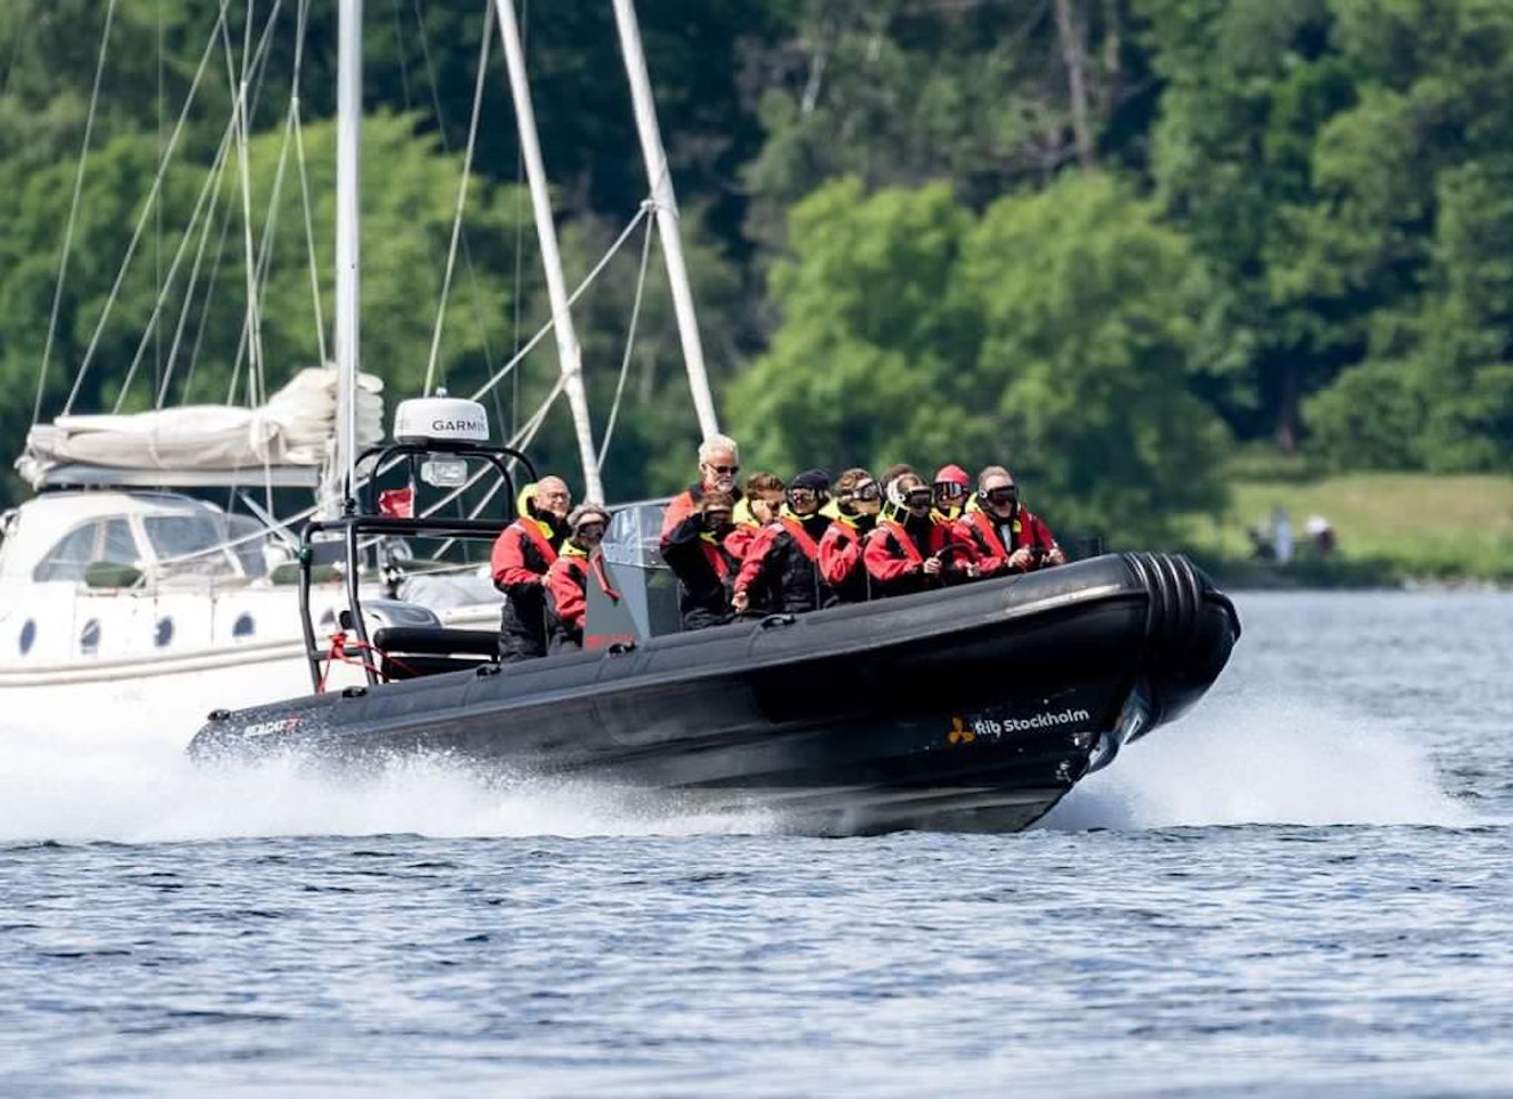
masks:
<path id="1" fill-rule="evenodd" d="M 714 413 L 714 396 L 710 393 L 710 375 L 704 369 L 699 317 L 693 310 L 688 268 L 682 258 L 682 239 L 678 236 L 678 197 L 672 189 L 667 150 L 663 148 L 661 128 L 657 125 L 657 101 L 652 98 L 652 80 L 646 73 L 646 54 L 642 50 L 634 0 L 614 0 L 614 23 L 620 30 L 620 53 L 625 57 L 625 74 L 631 82 L 631 100 L 635 104 L 635 130 L 642 139 L 642 159 L 646 162 L 652 203 L 657 206 L 657 233 L 663 255 L 667 257 L 667 281 L 672 284 L 672 305 L 678 314 L 682 363 L 688 372 L 688 389 L 693 393 L 699 428 L 710 437 L 719 432 L 720 422 Z"/>

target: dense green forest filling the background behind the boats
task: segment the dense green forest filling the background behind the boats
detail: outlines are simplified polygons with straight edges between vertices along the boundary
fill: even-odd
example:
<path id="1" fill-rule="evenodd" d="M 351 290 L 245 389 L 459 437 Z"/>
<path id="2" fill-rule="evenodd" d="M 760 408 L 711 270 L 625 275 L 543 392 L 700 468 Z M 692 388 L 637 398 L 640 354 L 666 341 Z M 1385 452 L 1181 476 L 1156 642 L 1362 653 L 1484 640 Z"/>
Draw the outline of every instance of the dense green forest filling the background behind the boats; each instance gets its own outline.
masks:
<path id="1" fill-rule="evenodd" d="M 365 369 L 415 393 L 436 343 L 466 390 L 546 317 L 496 41 L 478 82 L 490 5 L 366 8 Z M 0 5 L 14 450 L 70 404 L 247 401 L 330 354 L 334 9 Z M 576 283 L 646 195 L 613 15 L 517 9 Z M 747 467 L 1006 460 L 1064 523 L 1151 538 L 1219 505 L 1236 446 L 1513 470 L 1513 3 L 638 11 Z M 673 488 L 696 441 L 655 245 L 629 342 L 645 246 L 576 308 L 601 435 L 625 367 L 613 499 Z M 546 340 L 490 393 L 499 423 L 555 375 Z M 536 449 L 576 469 L 564 408 Z"/>

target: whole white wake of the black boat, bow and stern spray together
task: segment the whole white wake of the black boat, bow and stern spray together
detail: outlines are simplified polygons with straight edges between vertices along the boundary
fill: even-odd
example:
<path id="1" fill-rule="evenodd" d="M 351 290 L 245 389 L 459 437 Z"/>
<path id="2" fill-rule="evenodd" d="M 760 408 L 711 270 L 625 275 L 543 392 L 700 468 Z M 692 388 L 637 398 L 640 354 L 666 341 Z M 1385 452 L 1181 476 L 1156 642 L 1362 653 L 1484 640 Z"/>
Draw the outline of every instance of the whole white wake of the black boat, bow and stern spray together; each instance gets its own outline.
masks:
<path id="1" fill-rule="evenodd" d="M 56 714 L 0 718 L 0 842 L 172 842 L 251 836 L 635 836 L 764 833 L 770 815 L 669 812 L 592 786 L 501 785 L 445 759 L 365 779 L 301 760 L 200 766 L 183 753 L 201 712 L 160 706 L 106 730 Z M 1428 754 L 1345 714 L 1238 694 L 1207 700 L 1089 777 L 1042 827 L 1427 824 L 1475 815 Z"/>

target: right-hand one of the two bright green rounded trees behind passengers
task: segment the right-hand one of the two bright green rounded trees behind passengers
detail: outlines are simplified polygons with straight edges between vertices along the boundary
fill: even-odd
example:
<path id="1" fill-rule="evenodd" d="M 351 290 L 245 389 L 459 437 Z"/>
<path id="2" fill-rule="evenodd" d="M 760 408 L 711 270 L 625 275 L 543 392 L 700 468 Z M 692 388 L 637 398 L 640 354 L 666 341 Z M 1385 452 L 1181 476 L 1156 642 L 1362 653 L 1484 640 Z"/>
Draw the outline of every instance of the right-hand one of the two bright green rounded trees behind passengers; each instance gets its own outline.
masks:
<path id="1" fill-rule="evenodd" d="M 1191 266 L 1150 203 L 1097 174 L 1003 198 L 968 237 L 974 389 L 997 413 L 999 455 L 1053 522 L 1138 544 L 1221 503 L 1224 431 L 1186 387 Z"/>

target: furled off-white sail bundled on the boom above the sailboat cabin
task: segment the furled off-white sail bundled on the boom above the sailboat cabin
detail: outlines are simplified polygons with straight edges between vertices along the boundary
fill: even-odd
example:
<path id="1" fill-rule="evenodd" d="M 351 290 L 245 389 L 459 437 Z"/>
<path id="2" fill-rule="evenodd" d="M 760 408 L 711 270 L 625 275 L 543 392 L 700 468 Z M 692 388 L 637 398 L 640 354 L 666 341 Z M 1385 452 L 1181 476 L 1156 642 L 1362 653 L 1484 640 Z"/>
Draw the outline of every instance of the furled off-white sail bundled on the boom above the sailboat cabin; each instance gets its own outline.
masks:
<path id="1" fill-rule="evenodd" d="M 15 466 L 33 487 L 62 466 L 191 472 L 319 467 L 336 438 L 336 367 L 300 370 L 260 408 L 186 405 L 130 416 L 61 416 L 27 432 Z M 357 384 L 359 449 L 384 438 L 383 381 Z"/>

